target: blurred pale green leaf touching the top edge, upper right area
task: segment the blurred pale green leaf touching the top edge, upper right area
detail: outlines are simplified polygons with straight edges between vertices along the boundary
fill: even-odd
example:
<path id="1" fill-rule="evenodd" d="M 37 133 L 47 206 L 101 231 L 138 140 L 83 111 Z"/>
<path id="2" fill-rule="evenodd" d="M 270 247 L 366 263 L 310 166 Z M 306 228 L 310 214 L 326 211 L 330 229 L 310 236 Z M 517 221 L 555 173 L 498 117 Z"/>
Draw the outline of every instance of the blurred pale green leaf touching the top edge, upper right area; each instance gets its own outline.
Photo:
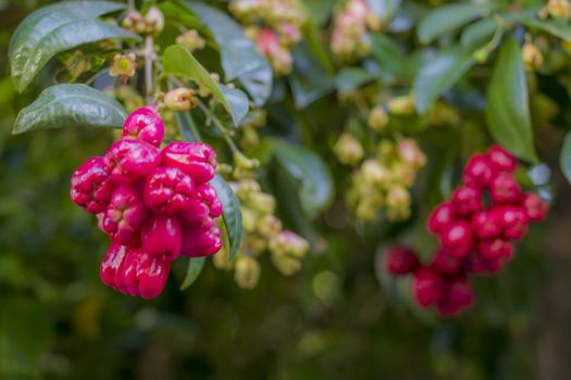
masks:
<path id="1" fill-rule="evenodd" d="M 488 11 L 488 7 L 479 4 L 437 7 L 422 17 L 417 29 L 417 35 L 422 43 L 430 43 L 435 38 L 483 16 Z"/>

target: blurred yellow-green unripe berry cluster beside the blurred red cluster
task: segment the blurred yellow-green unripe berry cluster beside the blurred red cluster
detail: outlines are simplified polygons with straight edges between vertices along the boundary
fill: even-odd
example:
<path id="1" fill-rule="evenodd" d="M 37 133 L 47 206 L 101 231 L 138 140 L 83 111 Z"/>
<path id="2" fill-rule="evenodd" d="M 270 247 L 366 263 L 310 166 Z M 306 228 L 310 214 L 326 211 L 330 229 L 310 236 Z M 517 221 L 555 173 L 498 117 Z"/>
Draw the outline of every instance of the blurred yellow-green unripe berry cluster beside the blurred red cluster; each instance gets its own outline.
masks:
<path id="1" fill-rule="evenodd" d="M 334 150 L 342 163 L 360 163 L 351 176 L 351 186 L 346 195 L 347 204 L 359 219 L 376 219 L 382 207 L 386 207 L 386 217 L 393 221 L 410 216 L 410 188 L 420 168 L 426 164 L 426 156 L 414 140 L 384 139 L 375 156 L 362 162 L 363 148 L 349 134 L 340 136 Z"/>

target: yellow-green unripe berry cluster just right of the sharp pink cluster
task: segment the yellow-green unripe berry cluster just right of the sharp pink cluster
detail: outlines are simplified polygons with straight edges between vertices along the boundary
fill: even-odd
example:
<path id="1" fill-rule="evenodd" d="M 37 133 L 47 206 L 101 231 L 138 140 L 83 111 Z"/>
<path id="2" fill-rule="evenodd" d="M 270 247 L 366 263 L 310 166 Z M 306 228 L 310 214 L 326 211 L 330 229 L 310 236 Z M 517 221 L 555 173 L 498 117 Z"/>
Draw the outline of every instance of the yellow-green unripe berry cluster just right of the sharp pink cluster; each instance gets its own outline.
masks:
<path id="1" fill-rule="evenodd" d="M 270 252 L 272 263 L 285 276 L 301 268 L 301 259 L 309 251 L 309 243 L 295 232 L 284 230 L 275 216 L 275 200 L 261 191 L 251 178 L 231 182 L 240 200 L 244 238 L 234 263 L 222 255 L 214 256 L 214 265 L 221 269 L 234 269 L 234 279 L 245 289 L 255 288 L 261 268 L 258 257 Z"/>

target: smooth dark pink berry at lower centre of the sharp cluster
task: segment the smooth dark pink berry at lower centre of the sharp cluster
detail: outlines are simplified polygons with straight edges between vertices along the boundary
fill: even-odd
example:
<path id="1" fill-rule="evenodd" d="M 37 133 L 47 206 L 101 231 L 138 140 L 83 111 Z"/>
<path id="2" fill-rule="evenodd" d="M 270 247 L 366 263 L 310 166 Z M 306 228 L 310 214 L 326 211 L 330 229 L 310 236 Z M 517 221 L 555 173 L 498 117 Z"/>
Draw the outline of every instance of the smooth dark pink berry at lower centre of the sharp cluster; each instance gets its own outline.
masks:
<path id="1" fill-rule="evenodd" d="M 142 251 L 166 261 L 175 259 L 183 243 L 182 227 L 173 216 L 154 215 L 147 219 L 141 229 Z"/>

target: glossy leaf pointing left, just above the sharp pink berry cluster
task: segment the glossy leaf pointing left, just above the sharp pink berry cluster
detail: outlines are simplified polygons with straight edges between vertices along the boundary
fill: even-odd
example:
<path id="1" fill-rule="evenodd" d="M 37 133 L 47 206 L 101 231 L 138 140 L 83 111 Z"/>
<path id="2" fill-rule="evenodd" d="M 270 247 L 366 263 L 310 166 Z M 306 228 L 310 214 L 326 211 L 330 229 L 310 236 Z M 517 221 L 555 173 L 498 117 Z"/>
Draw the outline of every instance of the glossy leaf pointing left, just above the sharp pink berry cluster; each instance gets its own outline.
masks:
<path id="1" fill-rule="evenodd" d="M 47 88 L 16 117 L 12 134 L 64 127 L 121 128 L 127 113 L 123 105 L 103 92 L 85 85 L 57 85 Z"/>

